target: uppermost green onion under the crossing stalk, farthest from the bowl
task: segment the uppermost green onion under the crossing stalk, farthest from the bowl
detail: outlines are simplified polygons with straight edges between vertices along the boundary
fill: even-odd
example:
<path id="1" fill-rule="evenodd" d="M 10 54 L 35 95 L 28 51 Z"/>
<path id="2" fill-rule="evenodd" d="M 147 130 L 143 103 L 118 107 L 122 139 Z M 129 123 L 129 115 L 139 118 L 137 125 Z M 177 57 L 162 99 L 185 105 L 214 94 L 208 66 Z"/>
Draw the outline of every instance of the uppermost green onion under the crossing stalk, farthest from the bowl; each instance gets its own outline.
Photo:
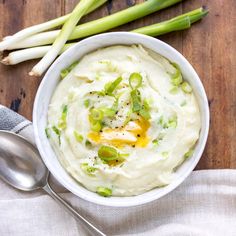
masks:
<path id="1" fill-rule="evenodd" d="M 105 2 L 107 2 L 107 0 L 97 0 L 91 7 L 89 7 L 89 9 L 85 12 L 84 15 L 87 15 L 90 12 L 96 10 Z M 53 28 L 63 25 L 69 19 L 70 15 L 71 14 L 67 14 L 65 16 L 61 16 L 59 18 L 47 21 L 45 23 L 28 27 L 12 36 L 5 37 L 3 41 L 0 42 L 0 51 L 8 50 L 11 47 L 14 47 L 14 45 L 17 44 L 19 41 L 28 38 L 29 36 L 35 35 L 46 30 L 51 30 Z"/>

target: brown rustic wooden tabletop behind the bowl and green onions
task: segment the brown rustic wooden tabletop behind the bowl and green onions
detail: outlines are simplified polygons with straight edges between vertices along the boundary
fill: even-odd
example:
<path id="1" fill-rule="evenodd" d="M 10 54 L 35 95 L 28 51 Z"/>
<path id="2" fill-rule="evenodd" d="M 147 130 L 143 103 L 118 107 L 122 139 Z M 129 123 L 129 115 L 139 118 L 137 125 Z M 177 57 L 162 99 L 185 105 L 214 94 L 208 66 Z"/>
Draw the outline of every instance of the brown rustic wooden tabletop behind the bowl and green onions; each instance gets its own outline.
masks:
<path id="1" fill-rule="evenodd" d="M 77 0 L 0 0 L 0 37 L 73 9 Z M 96 19 L 140 3 L 113 0 L 83 21 Z M 206 5 L 210 14 L 190 30 L 159 37 L 192 63 L 205 86 L 211 126 L 208 143 L 197 169 L 236 168 L 236 1 L 185 0 L 115 30 L 131 30 Z M 35 61 L 0 66 L 0 104 L 31 119 L 34 96 L 41 78 L 29 77 Z"/>

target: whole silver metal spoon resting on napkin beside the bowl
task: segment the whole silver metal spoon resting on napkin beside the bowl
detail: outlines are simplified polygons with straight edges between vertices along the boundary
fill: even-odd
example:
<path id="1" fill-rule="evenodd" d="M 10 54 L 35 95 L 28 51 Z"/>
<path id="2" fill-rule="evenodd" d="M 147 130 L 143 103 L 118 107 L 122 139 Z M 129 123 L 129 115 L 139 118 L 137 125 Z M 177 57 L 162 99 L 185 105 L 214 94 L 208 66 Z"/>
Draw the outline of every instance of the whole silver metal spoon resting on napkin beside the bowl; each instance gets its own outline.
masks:
<path id="1" fill-rule="evenodd" d="M 41 160 L 38 150 L 31 143 L 15 133 L 0 131 L 1 179 L 23 191 L 44 189 L 76 220 L 82 222 L 92 235 L 106 236 L 51 189 L 48 175 L 49 171 Z"/>

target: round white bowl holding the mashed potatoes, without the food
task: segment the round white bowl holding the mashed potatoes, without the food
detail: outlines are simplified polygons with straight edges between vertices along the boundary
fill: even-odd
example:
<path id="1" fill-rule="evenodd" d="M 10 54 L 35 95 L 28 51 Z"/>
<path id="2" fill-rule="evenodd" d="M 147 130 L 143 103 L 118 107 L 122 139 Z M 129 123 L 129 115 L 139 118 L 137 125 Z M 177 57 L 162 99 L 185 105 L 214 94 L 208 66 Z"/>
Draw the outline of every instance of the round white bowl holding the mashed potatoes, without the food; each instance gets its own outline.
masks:
<path id="1" fill-rule="evenodd" d="M 177 62 L 182 70 L 184 78 L 192 85 L 197 97 L 201 112 L 201 133 L 194 154 L 186 160 L 176 171 L 176 179 L 166 187 L 156 188 L 144 194 L 131 197 L 104 198 L 90 192 L 78 184 L 60 165 L 46 135 L 47 112 L 51 96 L 60 81 L 60 71 L 71 63 L 83 57 L 87 53 L 98 48 L 111 45 L 141 44 L 144 47 L 157 52 L 171 61 Z M 156 200 L 180 185 L 197 165 L 204 150 L 209 129 L 209 108 L 203 85 L 190 63 L 174 48 L 168 44 L 141 34 L 114 32 L 105 33 L 84 39 L 63 53 L 50 67 L 44 76 L 34 103 L 33 124 L 36 144 L 42 159 L 53 176 L 69 191 L 87 201 L 113 207 L 128 207 L 141 205 Z"/>

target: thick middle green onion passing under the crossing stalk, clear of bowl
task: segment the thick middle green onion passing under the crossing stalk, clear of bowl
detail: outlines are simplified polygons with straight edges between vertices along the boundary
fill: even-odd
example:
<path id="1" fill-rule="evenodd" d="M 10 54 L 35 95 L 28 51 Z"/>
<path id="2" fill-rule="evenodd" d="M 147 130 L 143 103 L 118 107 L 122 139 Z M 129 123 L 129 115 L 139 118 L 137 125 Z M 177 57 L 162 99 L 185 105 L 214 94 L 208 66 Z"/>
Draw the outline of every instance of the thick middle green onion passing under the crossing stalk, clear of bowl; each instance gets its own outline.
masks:
<path id="1" fill-rule="evenodd" d="M 74 29 L 73 33 L 70 35 L 69 40 L 80 39 L 101 32 L 105 32 L 117 26 L 126 24 L 128 22 L 142 18 L 146 15 L 152 14 L 161 9 L 172 6 L 181 1 L 182 0 L 145 1 L 143 3 L 129 7 L 112 15 L 78 25 Z M 9 46 L 8 49 L 13 50 L 52 44 L 55 41 L 56 37 L 59 35 L 59 33 L 60 30 L 39 33 Z"/>

